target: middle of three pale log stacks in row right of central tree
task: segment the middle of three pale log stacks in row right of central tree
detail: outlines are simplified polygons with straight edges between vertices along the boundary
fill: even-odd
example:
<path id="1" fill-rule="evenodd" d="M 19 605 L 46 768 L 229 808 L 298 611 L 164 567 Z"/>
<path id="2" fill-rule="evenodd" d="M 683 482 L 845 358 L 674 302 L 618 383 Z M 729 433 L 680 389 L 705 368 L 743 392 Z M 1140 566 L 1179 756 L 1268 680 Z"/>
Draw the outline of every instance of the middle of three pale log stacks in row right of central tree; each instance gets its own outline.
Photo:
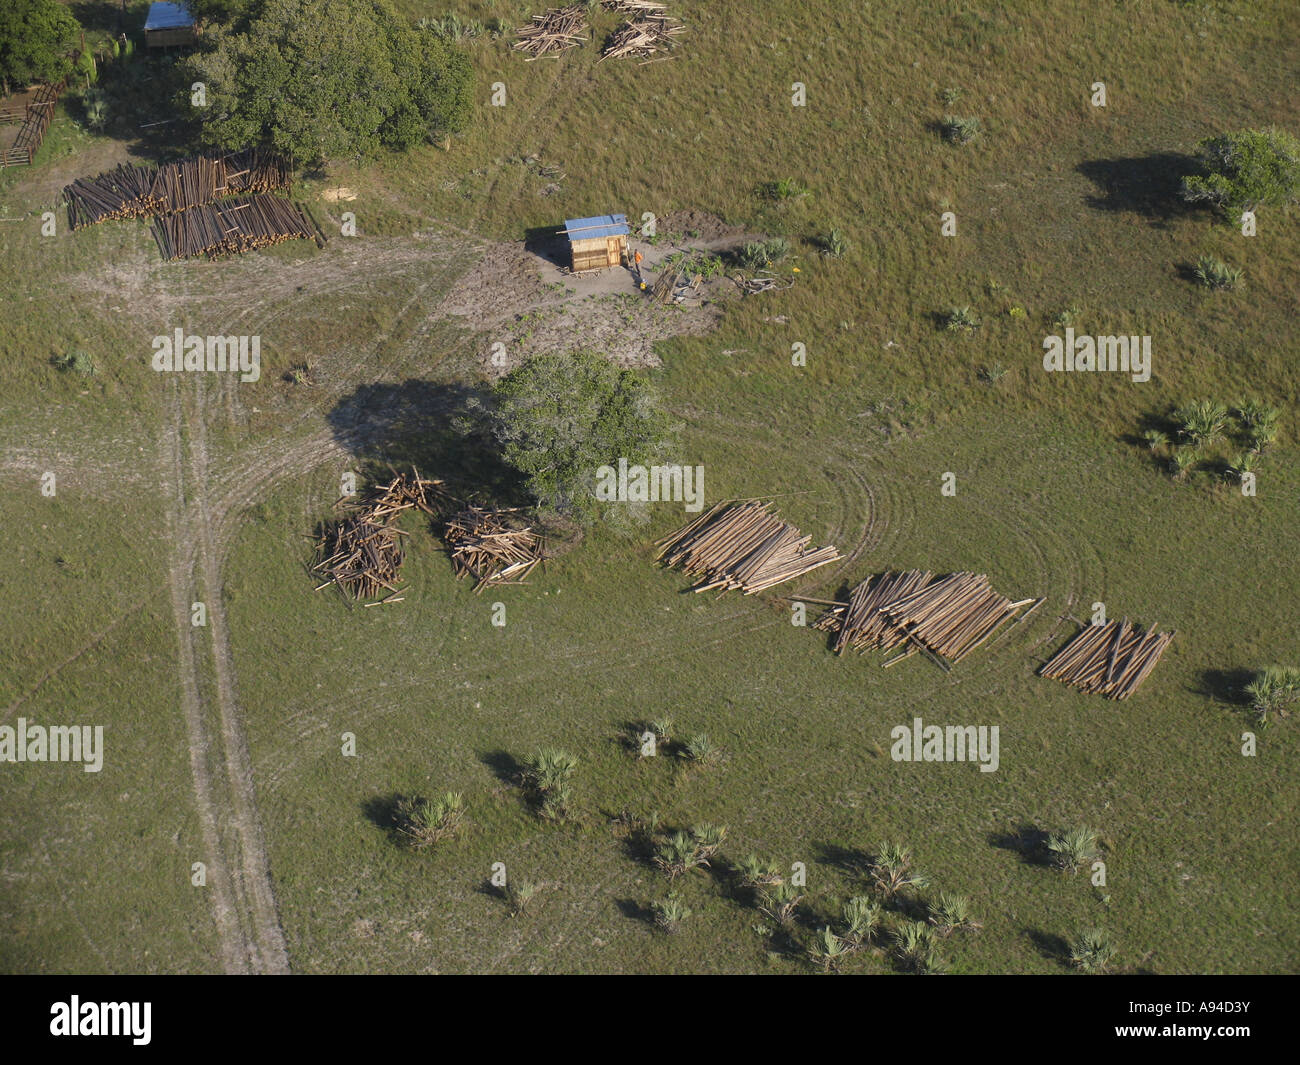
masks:
<path id="1" fill-rule="evenodd" d="M 868 577 L 849 593 L 848 603 L 831 607 L 814 628 L 836 633 L 835 650 L 858 651 L 879 648 L 904 651 L 885 662 L 892 666 L 918 651 L 944 668 L 961 662 L 984 644 L 1019 610 L 1024 620 L 1041 599 L 1011 602 L 993 590 L 983 573 L 949 573 L 909 570 Z"/>

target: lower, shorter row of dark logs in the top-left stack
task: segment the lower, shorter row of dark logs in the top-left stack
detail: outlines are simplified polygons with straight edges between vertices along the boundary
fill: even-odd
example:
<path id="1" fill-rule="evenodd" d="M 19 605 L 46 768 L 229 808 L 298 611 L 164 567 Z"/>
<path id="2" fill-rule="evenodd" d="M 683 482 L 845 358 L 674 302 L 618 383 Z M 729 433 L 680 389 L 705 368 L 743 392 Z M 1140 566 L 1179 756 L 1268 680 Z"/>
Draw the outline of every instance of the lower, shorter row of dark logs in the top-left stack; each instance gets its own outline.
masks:
<path id="1" fill-rule="evenodd" d="M 302 207 L 269 192 L 230 196 L 153 220 L 153 239 L 165 260 L 220 259 L 299 238 L 324 243 Z"/>

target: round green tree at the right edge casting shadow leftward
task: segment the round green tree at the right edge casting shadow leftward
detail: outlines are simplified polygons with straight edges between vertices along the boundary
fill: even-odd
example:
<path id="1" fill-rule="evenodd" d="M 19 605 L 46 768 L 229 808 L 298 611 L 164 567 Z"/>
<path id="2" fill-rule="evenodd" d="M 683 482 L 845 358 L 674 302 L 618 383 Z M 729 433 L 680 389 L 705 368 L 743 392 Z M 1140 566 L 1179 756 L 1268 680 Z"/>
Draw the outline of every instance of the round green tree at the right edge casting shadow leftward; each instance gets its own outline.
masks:
<path id="1" fill-rule="evenodd" d="M 1223 211 L 1300 199 L 1300 140 L 1278 129 L 1240 130 L 1196 146 L 1202 173 L 1183 178 L 1183 198 Z"/>

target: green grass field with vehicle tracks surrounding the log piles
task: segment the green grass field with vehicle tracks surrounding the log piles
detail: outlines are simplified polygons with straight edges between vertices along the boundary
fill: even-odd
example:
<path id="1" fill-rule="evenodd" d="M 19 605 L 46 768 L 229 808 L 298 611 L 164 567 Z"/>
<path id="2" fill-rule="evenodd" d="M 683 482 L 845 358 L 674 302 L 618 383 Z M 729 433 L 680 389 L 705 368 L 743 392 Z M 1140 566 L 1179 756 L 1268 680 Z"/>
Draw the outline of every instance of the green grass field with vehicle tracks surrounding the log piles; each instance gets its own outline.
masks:
<path id="1" fill-rule="evenodd" d="M 108 743 L 98 775 L 0 766 L 0 967 L 812 971 L 802 948 L 864 889 L 854 856 L 896 840 L 932 879 L 920 899 L 967 895 L 983 925 L 942 941 L 954 973 L 1066 973 L 1061 939 L 1086 926 L 1131 971 L 1296 970 L 1296 724 L 1260 731 L 1236 689 L 1300 663 L 1297 213 L 1264 209 L 1245 238 L 1170 196 L 1201 137 L 1300 133 L 1300 100 L 1277 91 L 1300 78 L 1292 5 L 671 5 L 688 26 L 671 62 L 597 64 L 597 44 L 524 62 L 508 38 L 471 42 L 482 108 L 451 151 L 298 187 L 329 233 L 356 213 L 360 235 L 324 250 L 162 264 L 142 222 L 66 233 L 62 185 L 147 150 L 117 126 L 82 130 L 72 99 L 38 165 L 0 172 L 16 557 L 0 573 L 0 723 L 101 723 Z M 541 5 L 455 9 L 517 26 Z M 594 18 L 597 40 L 616 25 Z M 504 107 L 488 103 L 497 82 Z M 982 135 L 944 143 L 932 126 L 950 112 Z M 534 155 L 564 173 L 558 192 Z M 758 191 L 781 178 L 807 195 Z M 339 186 L 356 199 L 321 198 Z M 762 596 L 693 596 L 654 564 L 653 542 L 686 518 L 662 505 L 630 531 L 590 531 L 525 586 L 474 596 L 411 519 L 404 602 L 313 593 L 311 536 L 343 472 L 482 475 L 447 429 L 494 334 L 443 303 L 485 242 L 688 209 L 788 237 L 800 273 L 656 347 L 680 458 L 706 467 L 710 502 L 775 495 L 844 558 Z M 838 259 L 820 252 L 832 229 L 849 241 Z M 1188 281 L 1206 254 L 1243 267 L 1245 287 Z M 982 326 L 942 332 L 953 306 Z M 1152 335 L 1152 380 L 1045 373 L 1043 338 L 1067 308 L 1082 333 Z M 261 380 L 156 375 L 150 341 L 177 325 L 260 334 Z M 94 375 L 51 365 L 72 348 Z M 303 362 L 313 384 L 283 380 Z M 1205 471 L 1175 481 L 1136 442 L 1175 403 L 1252 395 L 1283 410 L 1254 497 Z M 837 658 L 790 624 L 789 592 L 833 598 L 913 567 L 1046 602 L 950 674 Z M 1035 675 L 1095 602 L 1178 631 L 1124 702 Z M 662 717 L 708 733 L 720 763 L 634 758 L 627 726 Z M 998 770 L 892 761 L 890 730 L 914 717 L 998 726 Z M 511 780 L 540 746 L 578 758 L 572 823 L 542 822 Z M 393 797 L 448 789 L 468 805 L 460 837 L 398 845 Z M 728 827 L 724 861 L 673 884 L 692 915 L 672 936 L 647 919 L 668 880 L 616 821 L 651 813 Z M 1106 841 L 1104 888 L 1011 843 L 1079 823 Z M 806 865 L 793 939 L 732 889 L 727 861 L 749 853 Z M 196 861 L 214 871 L 204 888 Z M 488 887 L 497 862 L 542 884 L 519 917 Z M 894 967 L 880 952 L 845 965 Z"/>

